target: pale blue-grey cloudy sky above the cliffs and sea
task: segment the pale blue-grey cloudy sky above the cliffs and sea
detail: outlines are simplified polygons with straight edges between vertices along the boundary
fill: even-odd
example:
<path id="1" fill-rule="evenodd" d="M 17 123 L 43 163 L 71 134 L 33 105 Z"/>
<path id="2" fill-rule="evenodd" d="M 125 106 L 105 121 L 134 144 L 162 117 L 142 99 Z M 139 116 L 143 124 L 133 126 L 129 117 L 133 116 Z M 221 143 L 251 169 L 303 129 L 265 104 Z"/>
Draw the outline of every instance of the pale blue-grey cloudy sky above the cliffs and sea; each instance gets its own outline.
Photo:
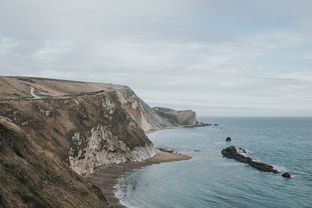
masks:
<path id="1" fill-rule="evenodd" d="M 199 116 L 312 116 L 310 0 L 0 0 L 0 74 Z"/>

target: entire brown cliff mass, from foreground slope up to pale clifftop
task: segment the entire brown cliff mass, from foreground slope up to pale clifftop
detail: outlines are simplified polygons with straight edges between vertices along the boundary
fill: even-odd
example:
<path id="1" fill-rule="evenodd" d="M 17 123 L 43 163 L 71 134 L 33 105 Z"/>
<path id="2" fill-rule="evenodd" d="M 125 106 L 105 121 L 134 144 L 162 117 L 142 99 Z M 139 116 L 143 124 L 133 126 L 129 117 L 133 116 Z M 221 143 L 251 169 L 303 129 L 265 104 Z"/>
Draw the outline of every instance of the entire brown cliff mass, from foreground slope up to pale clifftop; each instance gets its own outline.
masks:
<path id="1" fill-rule="evenodd" d="M 172 125 L 126 86 L 0 77 L 0 206 L 107 207 L 81 176 L 152 157 L 145 132 Z"/>

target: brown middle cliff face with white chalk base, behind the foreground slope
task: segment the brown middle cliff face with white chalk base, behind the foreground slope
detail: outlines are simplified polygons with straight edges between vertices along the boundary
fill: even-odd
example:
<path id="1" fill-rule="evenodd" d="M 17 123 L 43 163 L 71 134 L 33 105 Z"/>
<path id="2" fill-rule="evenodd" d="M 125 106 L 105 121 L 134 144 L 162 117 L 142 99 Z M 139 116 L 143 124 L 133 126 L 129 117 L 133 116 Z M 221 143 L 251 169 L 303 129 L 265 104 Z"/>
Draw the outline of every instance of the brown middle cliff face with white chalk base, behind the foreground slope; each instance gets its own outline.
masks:
<path id="1" fill-rule="evenodd" d="M 155 154 L 152 143 L 124 110 L 117 92 L 67 99 L 1 103 L 1 115 L 60 155 L 79 174 Z M 60 143 L 61 145 L 56 145 Z"/>

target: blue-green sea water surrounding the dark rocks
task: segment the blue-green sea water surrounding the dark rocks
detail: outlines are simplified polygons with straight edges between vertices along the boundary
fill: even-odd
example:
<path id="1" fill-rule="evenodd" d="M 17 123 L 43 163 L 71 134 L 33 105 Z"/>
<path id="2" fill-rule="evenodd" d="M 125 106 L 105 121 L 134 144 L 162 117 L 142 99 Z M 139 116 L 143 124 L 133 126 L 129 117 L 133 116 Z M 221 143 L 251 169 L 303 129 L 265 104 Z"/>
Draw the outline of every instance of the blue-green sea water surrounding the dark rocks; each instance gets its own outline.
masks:
<path id="1" fill-rule="evenodd" d="M 128 207 L 311 208 L 312 118 L 200 118 L 217 127 L 157 131 L 149 138 L 191 155 L 188 161 L 145 167 L 124 177 L 118 197 Z M 226 143 L 225 138 L 232 137 Z M 223 158 L 229 145 L 292 179 Z M 199 152 L 194 150 L 198 149 Z"/>

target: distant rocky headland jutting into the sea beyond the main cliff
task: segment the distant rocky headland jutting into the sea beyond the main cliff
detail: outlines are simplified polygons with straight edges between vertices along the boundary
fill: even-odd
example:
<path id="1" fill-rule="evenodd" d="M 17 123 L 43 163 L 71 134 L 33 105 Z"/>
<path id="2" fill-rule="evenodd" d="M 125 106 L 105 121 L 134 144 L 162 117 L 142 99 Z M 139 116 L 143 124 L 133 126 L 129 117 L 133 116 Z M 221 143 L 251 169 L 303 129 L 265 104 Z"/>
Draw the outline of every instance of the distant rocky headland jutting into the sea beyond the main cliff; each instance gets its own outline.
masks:
<path id="1" fill-rule="evenodd" d="M 192 110 L 176 111 L 170 108 L 154 107 L 156 113 L 168 120 L 172 125 L 197 125 L 196 113 Z"/>

